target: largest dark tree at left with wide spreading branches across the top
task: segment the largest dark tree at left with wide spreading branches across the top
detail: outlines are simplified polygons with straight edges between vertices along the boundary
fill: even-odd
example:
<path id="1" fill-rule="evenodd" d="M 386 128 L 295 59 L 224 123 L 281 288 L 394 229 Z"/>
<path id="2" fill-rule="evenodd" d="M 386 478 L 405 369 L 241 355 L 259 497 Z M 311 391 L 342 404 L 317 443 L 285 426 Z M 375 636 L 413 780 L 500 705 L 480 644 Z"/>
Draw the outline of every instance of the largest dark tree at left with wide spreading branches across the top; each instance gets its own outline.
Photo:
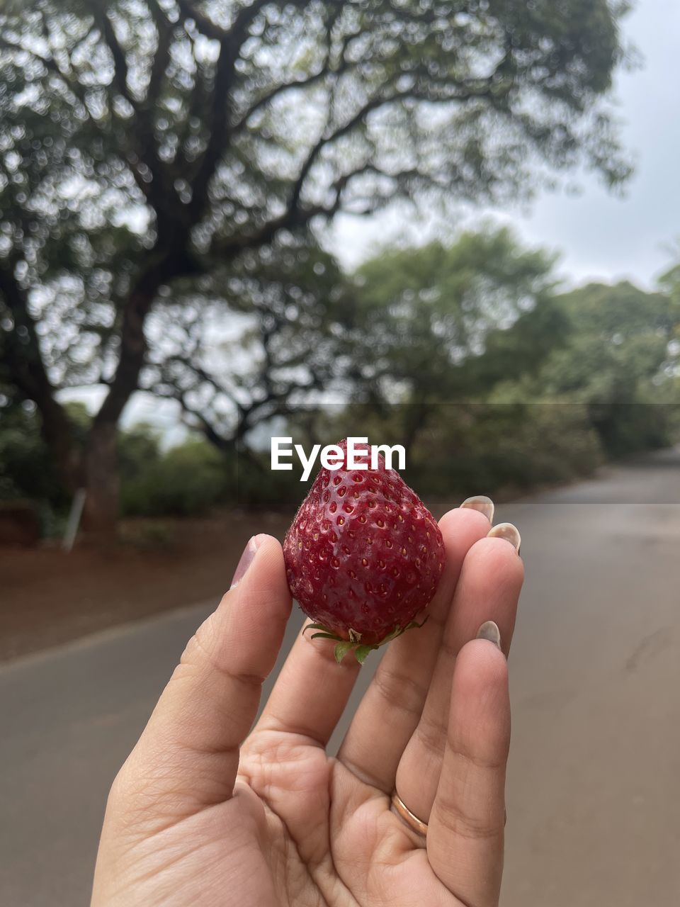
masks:
<path id="1" fill-rule="evenodd" d="M 179 281 L 395 198 L 504 200 L 628 172 L 607 112 L 623 4 L 5 0 L 2 355 L 90 527 Z M 85 453 L 58 390 L 102 385 Z"/>

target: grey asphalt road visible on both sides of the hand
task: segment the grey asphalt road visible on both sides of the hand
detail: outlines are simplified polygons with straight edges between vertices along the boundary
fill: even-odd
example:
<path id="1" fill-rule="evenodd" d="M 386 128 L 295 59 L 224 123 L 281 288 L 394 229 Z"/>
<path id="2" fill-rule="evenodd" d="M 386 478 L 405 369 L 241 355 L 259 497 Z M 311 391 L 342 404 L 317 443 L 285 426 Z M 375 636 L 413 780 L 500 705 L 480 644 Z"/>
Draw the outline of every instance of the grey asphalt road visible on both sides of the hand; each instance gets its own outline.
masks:
<path id="1" fill-rule="evenodd" d="M 680 453 L 497 519 L 520 526 L 527 566 L 502 907 L 676 907 Z M 0 902 L 88 902 L 112 777 L 213 604 L 0 670 Z M 370 675 L 367 663 L 357 696 Z"/>

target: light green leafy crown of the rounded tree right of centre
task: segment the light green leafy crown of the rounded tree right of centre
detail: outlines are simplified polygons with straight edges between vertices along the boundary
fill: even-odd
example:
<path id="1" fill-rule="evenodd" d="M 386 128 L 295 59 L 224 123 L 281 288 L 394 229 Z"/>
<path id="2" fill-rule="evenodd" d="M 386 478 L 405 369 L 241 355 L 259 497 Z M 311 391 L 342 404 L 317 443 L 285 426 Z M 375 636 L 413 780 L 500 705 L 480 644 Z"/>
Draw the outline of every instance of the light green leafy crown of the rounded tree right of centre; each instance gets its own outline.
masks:
<path id="1" fill-rule="evenodd" d="M 488 386 L 493 376 L 475 360 L 491 342 L 498 361 L 509 365 L 501 348 L 515 335 L 507 328 L 520 318 L 515 334 L 532 324 L 529 313 L 552 291 L 553 262 L 543 250 L 521 249 L 509 229 L 464 233 L 450 247 L 434 242 L 367 262 L 357 274 L 357 329 L 350 338 L 370 350 L 357 365 L 364 383 L 381 393 L 376 385 L 387 379 L 393 400 L 423 402 Z M 555 327 L 554 318 L 546 327 Z M 536 355 L 512 352 L 510 346 L 514 371 L 534 365 Z"/>

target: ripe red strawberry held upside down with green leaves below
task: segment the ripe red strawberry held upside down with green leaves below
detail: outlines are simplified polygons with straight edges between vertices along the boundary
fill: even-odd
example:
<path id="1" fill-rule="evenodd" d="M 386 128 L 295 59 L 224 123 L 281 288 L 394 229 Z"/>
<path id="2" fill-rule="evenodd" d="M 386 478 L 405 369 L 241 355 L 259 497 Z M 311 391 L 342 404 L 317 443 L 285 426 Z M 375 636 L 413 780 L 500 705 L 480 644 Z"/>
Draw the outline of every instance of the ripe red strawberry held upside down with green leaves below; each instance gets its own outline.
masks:
<path id="1" fill-rule="evenodd" d="M 442 533 L 421 499 L 379 457 L 376 470 L 322 468 L 284 540 L 288 585 L 317 636 L 363 664 L 432 601 L 442 576 Z M 355 462 L 370 457 L 355 455 Z M 425 618 L 427 619 L 427 618 Z"/>

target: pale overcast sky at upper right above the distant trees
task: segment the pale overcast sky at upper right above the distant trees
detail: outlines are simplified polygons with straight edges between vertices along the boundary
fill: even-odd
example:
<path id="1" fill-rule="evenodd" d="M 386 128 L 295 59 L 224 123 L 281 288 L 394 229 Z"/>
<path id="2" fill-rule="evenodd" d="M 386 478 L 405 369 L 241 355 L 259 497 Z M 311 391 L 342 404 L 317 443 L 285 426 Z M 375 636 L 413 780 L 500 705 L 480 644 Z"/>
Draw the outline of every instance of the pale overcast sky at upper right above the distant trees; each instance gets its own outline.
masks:
<path id="1" fill-rule="evenodd" d="M 624 144 L 636 161 L 626 196 L 607 193 L 586 174 L 578 178 L 578 197 L 549 193 L 527 211 L 483 213 L 511 223 L 532 245 L 561 251 L 560 273 L 575 282 L 631 278 L 652 288 L 680 239 L 680 3 L 636 0 L 624 31 L 644 60 L 642 69 L 617 78 Z M 480 218 L 480 212 L 468 214 L 464 225 Z M 403 229 L 394 215 L 374 222 L 345 217 L 335 227 L 334 250 L 352 267 L 378 238 L 385 241 Z"/>

